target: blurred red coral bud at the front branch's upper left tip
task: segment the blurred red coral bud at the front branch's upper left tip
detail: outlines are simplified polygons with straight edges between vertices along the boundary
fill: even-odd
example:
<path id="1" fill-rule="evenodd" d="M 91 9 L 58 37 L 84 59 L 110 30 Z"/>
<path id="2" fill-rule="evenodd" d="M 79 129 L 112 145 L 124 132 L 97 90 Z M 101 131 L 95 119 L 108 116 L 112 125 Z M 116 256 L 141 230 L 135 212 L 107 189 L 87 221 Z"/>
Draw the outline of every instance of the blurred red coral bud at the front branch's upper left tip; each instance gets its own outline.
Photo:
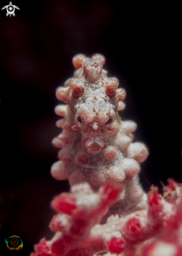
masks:
<path id="1" fill-rule="evenodd" d="M 76 209 L 76 201 L 68 193 L 62 193 L 54 198 L 51 206 L 57 212 L 72 215 L 72 211 Z"/>

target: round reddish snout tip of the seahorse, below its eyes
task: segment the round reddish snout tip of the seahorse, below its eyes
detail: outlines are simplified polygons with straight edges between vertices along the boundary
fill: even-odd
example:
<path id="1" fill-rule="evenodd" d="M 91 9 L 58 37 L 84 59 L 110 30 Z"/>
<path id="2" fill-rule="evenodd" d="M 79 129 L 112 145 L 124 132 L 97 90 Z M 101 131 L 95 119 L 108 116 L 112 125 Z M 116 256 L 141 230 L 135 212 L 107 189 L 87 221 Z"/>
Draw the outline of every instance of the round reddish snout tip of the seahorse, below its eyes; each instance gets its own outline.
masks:
<path id="1" fill-rule="evenodd" d="M 98 154 L 107 147 L 107 141 L 102 137 L 86 137 L 81 146 L 91 154 Z"/>

